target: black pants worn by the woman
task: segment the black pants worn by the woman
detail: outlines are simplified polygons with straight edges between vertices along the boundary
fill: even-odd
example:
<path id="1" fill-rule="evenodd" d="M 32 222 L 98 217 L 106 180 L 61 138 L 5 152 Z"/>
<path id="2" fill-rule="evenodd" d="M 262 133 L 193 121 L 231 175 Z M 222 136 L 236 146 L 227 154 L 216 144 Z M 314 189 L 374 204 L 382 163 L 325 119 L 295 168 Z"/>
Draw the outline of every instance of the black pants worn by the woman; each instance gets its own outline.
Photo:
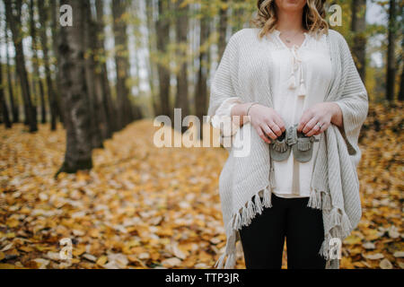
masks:
<path id="1" fill-rule="evenodd" d="M 280 269 L 286 238 L 288 269 L 324 269 L 319 255 L 324 239 L 321 210 L 307 207 L 308 197 L 272 195 L 272 207 L 257 213 L 240 238 L 247 269 Z"/>

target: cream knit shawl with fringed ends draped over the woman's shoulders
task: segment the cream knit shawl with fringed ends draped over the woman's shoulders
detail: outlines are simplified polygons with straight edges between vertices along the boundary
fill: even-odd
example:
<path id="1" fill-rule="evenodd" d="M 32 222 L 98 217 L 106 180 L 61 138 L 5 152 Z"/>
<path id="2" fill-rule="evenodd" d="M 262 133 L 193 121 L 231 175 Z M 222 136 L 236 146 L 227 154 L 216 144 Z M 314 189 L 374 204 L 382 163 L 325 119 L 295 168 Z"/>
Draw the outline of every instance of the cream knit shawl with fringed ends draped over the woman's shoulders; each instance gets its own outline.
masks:
<path id="1" fill-rule="evenodd" d="M 268 39 L 259 40 L 258 32 L 257 28 L 242 29 L 229 40 L 211 84 L 210 118 L 229 97 L 273 107 Z M 319 135 L 320 146 L 312 171 L 313 192 L 308 206 L 322 210 L 325 234 L 319 252 L 327 260 L 326 268 L 339 268 L 338 257 L 333 256 L 334 251 L 338 251 L 335 238 L 345 239 L 362 216 L 356 167 L 361 159 L 358 137 L 367 117 L 368 96 L 347 41 L 336 30 L 329 30 L 327 41 L 332 80 L 324 101 L 338 103 L 344 125 L 338 128 L 331 124 Z M 272 206 L 271 190 L 275 181 L 268 143 L 259 137 L 250 123 L 243 125 L 238 133 L 247 128 L 250 129 L 250 154 L 236 157 L 230 147 L 219 177 L 227 241 L 224 254 L 215 264 L 217 268 L 234 267 L 239 230 L 249 225 L 264 207 Z"/>

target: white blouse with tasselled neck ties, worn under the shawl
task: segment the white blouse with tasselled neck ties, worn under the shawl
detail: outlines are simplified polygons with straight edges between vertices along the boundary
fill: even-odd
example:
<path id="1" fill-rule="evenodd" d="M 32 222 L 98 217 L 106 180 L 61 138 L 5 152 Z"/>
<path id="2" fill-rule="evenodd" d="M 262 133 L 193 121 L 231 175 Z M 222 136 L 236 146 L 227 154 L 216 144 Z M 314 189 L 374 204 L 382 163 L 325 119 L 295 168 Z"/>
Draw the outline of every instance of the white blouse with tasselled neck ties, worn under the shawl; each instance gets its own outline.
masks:
<path id="1" fill-rule="evenodd" d="M 295 45 L 288 48 L 279 34 L 279 30 L 274 30 L 266 40 L 273 63 L 270 72 L 273 77 L 271 89 L 274 109 L 287 128 L 299 123 L 304 109 L 324 100 L 331 80 L 331 60 L 325 35 L 315 39 L 304 33 L 305 39 L 300 48 Z M 222 137 L 234 136 L 238 131 L 239 126 L 230 117 L 231 109 L 237 103 L 242 103 L 238 97 L 224 100 L 211 118 L 212 126 L 221 128 Z M 229 121 L 231 125 L 220 125 Z M 277 186 L 274 194 L 282 197 L 310 196 L 312 165 L 319 148 L 318 142 L 313 144 L 311 161 L 294 161 L 293 151 L 286 161 L 273 161 Z"/>

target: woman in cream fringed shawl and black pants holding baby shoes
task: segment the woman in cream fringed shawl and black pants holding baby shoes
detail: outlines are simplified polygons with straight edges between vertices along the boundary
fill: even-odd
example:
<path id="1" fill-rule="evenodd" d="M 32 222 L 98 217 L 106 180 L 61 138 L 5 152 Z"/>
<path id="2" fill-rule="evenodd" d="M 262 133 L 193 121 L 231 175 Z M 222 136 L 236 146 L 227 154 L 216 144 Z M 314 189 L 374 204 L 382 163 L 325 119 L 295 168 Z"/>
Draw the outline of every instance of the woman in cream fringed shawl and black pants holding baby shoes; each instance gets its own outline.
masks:
<path id="1" fill-rule="evenodd" d="M 247 268 L 281 268 L 285 241 L 288 268 L 338 268 L 340 242 L 360 220 L 368 97 L 324 4 L 259 0 L 257 28 L 236 32 L 224 50 L 208 109 L 231 143 L 219 178 L 227 242 L 218 268 L 233 268 L 239 240 Z M 249 152 L 237 155 L 243 144 Z"/>

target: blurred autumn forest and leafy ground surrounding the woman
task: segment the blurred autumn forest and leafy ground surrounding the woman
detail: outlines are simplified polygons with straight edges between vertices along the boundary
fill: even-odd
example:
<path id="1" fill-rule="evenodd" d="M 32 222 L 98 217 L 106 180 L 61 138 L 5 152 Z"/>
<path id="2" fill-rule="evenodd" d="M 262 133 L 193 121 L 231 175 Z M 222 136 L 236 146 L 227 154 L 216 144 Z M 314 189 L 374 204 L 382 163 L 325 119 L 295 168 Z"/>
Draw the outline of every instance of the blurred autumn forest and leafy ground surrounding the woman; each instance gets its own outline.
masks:
<path id="1" fill-rule="evenodd" d="M 403 268 L 404 4 L 331 4 L 370 100 L 364 215 L 341 267 Z M 255 12 L 241 0 L 0 1 L 0 268 L 214 265 L 227 152 L 157 148 L 154 117 L 202 121 L 226 43 Z"/>

